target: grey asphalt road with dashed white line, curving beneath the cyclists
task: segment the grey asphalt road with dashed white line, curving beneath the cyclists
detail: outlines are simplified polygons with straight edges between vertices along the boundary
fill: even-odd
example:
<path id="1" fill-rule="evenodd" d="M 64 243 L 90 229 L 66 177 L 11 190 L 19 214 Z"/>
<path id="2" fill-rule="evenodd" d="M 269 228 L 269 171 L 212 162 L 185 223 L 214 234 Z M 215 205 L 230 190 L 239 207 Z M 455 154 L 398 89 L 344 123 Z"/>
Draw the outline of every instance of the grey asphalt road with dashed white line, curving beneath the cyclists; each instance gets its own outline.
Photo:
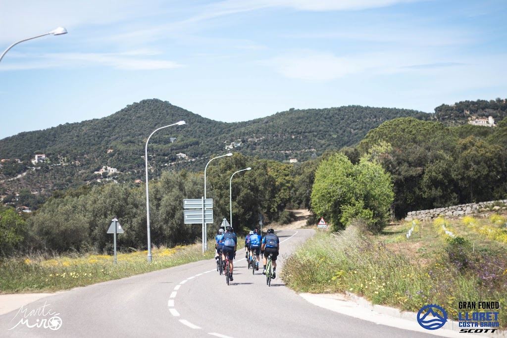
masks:
<path id="1" fill-rule="evenodd" d="M 313 233 L 278 232 L 282 254 Z M 244 258 L 241 249 L 237 257 Z M 244 259 L 237 260 L 229 286 L 215 267 L 214 260 L 204 260 L 42 298 L 26 306 L 29 312 L 46 305 L 44 313 L 28 316 L 28 324 L 36 324 L 36 319 L 43 324 L 43 319 L 56 316 L 61 326 L 51 324 L 57 330 L 26 324 L 9 330 L 21 318 L 14 311 L 0 316 L 0 336 L 428 336 L 316 307 L 285 287 L 278 276 L 268 287 L 262 269 L 252 276 Z"/>

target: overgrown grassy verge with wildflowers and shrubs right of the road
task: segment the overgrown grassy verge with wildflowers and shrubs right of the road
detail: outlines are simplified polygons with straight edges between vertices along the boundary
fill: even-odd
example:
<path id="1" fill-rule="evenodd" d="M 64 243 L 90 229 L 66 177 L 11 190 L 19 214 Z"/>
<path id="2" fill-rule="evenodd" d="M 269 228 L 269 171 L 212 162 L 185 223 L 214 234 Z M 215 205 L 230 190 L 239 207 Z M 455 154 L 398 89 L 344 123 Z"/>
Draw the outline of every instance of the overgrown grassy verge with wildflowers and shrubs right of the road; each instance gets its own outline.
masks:
<path id="1" fill-rule="evenodd" d="M 358 225 L 319 233 L 288 257 L 281 277 L 298 292 L 350 291 L 408 311 L 440 304 L 452 318 L 460 301 L 499 301 L 499 322 L 507 326 L 504 243 L 477 236 L 461 220 L 448 222 L 448 229 L 464 236 L 452 239 L 441 223 L 419 224 L 408 240 L 403 223 L 378 236 Z"/>

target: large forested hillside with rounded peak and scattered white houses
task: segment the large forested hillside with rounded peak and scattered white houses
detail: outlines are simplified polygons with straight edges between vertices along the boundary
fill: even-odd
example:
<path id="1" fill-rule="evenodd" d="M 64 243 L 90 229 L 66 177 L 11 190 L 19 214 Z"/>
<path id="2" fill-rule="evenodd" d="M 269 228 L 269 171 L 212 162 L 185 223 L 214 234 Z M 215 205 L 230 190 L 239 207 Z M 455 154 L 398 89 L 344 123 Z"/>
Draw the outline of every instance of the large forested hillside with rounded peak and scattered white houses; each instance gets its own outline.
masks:
<path id="1" fill-rule="evenodd" d="M 133 103 L 102 118 L 67 123 L 41 131 L 23 132 L 0 140 L 0 195 L 62 190 L 96 182 L 97 178 L 133 181 L 143 178 L 144 142 L 156 128 L 179 120 L 186 126 L 155 134 L 150 140 L 150 165 L 159 175 L 168 167 L 202 170 L 213 154 L 229 151 L 247 156 L 299 162 L 327 149 L 352 145 L 382 122 L 399 117 L 424 118 L 409 109 L 344 106 L 324 109 L 290 109 L 239 123 L 203 118 L 158 99 Z M 177 158 L 184 153 L 186 158 Z M 46 163 L 32 165 L 34 154 L 45 154 Z M 14 165 L 14 159 L 22 164 Z M 117 168 L 114 175 L 94 174 L 102 166 Z M 35 168 L 35 169 L 33 169 Z M 18 174 L 24 176 L 8 180 Z"/>

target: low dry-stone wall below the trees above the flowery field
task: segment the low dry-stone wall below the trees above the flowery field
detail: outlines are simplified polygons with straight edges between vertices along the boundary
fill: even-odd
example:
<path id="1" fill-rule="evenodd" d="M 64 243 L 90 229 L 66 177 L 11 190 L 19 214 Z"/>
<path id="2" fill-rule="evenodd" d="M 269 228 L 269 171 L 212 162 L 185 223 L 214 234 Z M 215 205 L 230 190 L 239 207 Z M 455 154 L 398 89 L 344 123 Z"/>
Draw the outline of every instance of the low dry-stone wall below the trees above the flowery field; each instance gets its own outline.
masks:
<path id="1" fill-rule="evenodd" d="M 493 206 L 496 204 L 495 206 Z M 502 204 L 502 206 L 499 206 Z M 489 202 L 479 202 L 479 203 L 468 203 L 468 204 L 460 204 L 454 205 L 451 207 L 445 208 L 436 208 L 430 210 L 417 210 L 410 211 L 405 217 L 405 220 L 430 220 L 433 218 L 437 218 L 439 216 L 450 218 L 450 217 L 460 217 L 464 215 L 479 213 L 483 211 L 497 211 L 500 209 L 507 209 L 507 200 L 498 200 L 498 201 L 489 201 Z"/>

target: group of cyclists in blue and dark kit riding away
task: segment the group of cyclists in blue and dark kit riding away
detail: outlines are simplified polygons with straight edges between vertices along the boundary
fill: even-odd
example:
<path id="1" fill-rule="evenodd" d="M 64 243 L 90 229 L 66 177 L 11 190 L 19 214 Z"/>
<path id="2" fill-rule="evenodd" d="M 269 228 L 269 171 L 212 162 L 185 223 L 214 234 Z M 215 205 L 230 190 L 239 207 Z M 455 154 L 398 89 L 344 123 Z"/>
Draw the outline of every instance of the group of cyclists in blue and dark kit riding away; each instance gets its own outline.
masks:
<path id="1" fill-rule="evenodd" d="M 215 236 L 215 248 L 216 256 L 215 260 L 219 260 L 219 255 L 222 254 L 222 261 L 226 260 L 226 256 L 229 258 L 229 269 L 230 277 L 232 281 L 232 272 L 234 269 L 233 259 L 236 255 L 238 247 L 238 238 L 232 227 L 227 227 L 226 231 L 220 229 L 218 234 Z M 262 237 L 258 229 L 252 230 L 245 237 L 245 258 L 256 259 L 255 265 L 252 264 L 252 269 L 259 270 L 260 255 L 263 255 L 263 275 L 266 274 L 267 258 L 271 254 L 271 260 L 273 264 L 273 274 L 271 278 L 276 278 L 276 257 L 280 250 L 280 240 L 275 235 L 273 229 L 268 229 L 266 236 Z M 255 257 L 255 258 L 254 258 Z"/>

